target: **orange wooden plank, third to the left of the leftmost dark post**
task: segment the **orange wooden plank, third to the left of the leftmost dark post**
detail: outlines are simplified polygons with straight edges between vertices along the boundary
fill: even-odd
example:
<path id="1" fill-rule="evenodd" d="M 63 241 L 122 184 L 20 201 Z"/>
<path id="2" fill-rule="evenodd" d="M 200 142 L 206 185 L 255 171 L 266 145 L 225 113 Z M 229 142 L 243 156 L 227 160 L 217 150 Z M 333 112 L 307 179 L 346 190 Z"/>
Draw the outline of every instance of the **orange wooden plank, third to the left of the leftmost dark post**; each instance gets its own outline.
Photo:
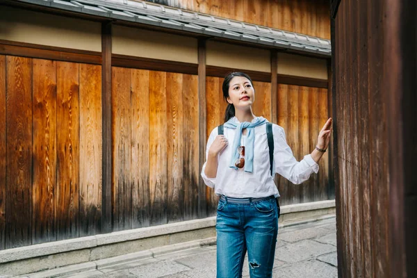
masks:
<path id="1" fill-rule="evenodd" d="M 56 62 L 33 59 L 32 244 L 56 240 Z"/>

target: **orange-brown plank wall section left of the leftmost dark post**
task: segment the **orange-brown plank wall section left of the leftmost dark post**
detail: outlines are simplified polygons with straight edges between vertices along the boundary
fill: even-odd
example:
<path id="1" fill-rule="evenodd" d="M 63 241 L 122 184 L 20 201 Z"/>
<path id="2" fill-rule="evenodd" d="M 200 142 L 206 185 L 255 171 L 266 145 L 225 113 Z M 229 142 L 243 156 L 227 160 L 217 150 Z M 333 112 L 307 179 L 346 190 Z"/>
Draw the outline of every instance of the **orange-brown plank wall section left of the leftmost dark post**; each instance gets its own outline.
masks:
<path id="1" fill-rule="evenodd" d="M 0 56 L 1 246 L 100 232 L 101 67 Z"/>

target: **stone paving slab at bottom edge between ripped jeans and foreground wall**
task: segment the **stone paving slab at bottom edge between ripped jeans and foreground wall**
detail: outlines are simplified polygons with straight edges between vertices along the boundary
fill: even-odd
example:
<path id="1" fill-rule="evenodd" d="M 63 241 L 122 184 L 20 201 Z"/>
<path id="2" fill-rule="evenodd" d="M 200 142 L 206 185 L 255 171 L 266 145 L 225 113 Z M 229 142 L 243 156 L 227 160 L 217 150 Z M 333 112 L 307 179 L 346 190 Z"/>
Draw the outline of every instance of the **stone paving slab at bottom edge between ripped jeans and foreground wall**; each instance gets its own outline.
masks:
<path id="1" fill-rule="evenodd" d="M 337 268 L 320 261 L 302 261 L 279 269 L 272 274 L 279 278 L 337 278 Z"/>

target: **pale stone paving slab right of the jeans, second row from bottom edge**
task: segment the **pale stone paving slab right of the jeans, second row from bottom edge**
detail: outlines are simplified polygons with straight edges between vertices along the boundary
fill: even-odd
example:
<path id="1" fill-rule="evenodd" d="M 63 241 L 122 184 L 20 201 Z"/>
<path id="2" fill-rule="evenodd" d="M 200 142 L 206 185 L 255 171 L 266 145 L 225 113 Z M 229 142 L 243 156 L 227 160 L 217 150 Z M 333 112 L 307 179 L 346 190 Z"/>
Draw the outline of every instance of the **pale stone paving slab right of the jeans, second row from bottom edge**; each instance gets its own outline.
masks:
<path id="1" fill-rule="evenodd" d="M 275 259 L 286 263 L 296 263 L 334 251 L 336 251 L 336 247 L 333 245 L 318 243 L 314 240 L 301 240 L 277 248 Z"/>

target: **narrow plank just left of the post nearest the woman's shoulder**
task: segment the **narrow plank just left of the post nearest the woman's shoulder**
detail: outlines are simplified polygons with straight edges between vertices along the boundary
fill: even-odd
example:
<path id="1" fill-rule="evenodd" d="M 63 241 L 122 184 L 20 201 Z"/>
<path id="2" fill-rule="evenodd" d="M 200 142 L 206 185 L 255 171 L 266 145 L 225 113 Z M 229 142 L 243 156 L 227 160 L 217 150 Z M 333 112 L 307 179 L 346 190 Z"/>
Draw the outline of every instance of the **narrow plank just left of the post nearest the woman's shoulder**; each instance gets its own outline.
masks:
<path id="1" fill-rule="evenodd" d="M 198 83 L 197 76 L 183 75 L 183 183 L 184 183 L 184 219 L 198 216 L 199 183 L 199 133 L 198 126 Z"/>

